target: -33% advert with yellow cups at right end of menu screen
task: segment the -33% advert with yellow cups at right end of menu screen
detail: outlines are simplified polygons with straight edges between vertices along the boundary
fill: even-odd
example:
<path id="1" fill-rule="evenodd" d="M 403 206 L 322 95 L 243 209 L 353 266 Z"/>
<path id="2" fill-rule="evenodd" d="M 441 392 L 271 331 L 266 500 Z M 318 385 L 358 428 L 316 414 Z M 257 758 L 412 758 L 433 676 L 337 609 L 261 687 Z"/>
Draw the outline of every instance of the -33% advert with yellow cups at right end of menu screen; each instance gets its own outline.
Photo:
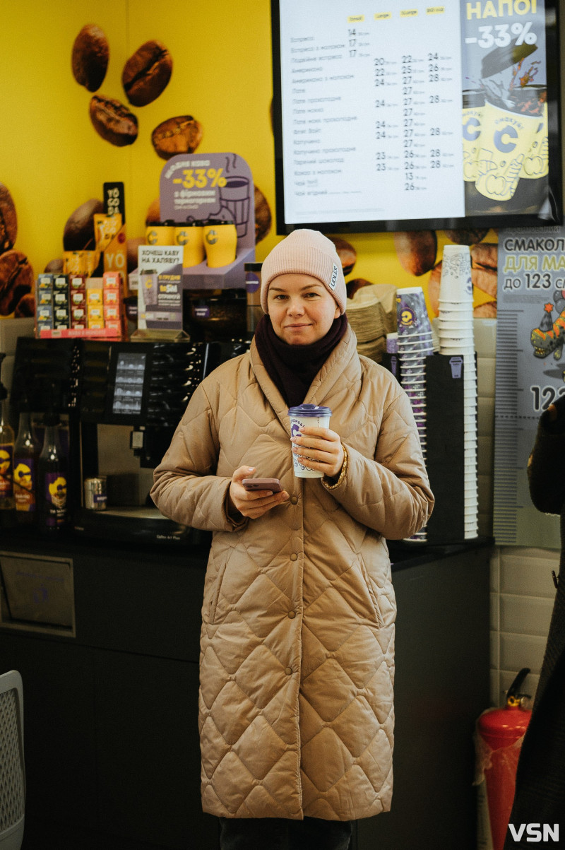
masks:
<path id="1" fill-rule="evenodd" d="M 544 0 L 461 3 L 461 15 L 466 216 L 542 212 L 550 203 Z"/>

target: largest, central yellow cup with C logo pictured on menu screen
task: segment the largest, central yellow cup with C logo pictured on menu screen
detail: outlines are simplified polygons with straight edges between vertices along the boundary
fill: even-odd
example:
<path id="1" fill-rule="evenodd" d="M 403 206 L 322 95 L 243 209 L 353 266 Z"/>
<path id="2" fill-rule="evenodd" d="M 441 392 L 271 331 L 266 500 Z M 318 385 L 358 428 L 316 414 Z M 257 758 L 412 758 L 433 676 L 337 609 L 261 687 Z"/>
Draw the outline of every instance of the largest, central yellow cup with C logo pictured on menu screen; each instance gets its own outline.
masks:
<path id="1" fill-rule="evenodd" d="M 539 124 L 539 116 L 485 103 L 475 181 L 481 195 L 493 201 L 511 199 Z"/>

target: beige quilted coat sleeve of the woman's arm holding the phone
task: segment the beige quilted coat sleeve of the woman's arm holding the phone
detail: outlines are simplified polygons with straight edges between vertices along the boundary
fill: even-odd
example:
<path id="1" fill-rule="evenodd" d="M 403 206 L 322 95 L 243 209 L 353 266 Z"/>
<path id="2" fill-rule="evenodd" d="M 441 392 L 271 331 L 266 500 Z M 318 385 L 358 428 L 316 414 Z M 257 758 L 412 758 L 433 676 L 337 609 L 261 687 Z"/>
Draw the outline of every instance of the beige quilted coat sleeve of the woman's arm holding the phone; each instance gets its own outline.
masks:
<path id="1" fill-rule="evenodd" d="M 231 479 L 216 475 L 218 454 L 214 411 L 200 384 L 155 468 L 150 496 L 164 516 L 195 529 L 234 530 L 224 507 Z"/>

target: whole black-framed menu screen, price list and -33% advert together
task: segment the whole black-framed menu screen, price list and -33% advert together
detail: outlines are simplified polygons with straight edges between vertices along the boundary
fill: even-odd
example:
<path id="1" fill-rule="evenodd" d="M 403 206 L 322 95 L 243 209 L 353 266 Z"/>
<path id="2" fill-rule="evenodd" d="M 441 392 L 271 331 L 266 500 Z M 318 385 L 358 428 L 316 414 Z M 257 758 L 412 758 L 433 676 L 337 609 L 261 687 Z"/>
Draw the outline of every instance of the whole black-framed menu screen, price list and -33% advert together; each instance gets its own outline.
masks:
<path id="1" fill-rule="evenodd" d="M 280 233 L 561 220 L 548 0 L 273 0 L 273 21 Z"/>

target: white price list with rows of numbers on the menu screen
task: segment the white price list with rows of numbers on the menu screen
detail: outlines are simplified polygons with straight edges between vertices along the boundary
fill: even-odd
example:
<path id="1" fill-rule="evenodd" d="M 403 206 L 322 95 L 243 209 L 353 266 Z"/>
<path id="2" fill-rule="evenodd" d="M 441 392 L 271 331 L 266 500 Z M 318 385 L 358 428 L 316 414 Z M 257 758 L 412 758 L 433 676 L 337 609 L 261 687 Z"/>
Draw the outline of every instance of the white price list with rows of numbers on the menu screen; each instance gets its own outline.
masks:
<path id="1" fill-rule="evenodd" d="M 280 3 L 286 220 L 463 216 L 459 3 L 347 7 Z"/>

